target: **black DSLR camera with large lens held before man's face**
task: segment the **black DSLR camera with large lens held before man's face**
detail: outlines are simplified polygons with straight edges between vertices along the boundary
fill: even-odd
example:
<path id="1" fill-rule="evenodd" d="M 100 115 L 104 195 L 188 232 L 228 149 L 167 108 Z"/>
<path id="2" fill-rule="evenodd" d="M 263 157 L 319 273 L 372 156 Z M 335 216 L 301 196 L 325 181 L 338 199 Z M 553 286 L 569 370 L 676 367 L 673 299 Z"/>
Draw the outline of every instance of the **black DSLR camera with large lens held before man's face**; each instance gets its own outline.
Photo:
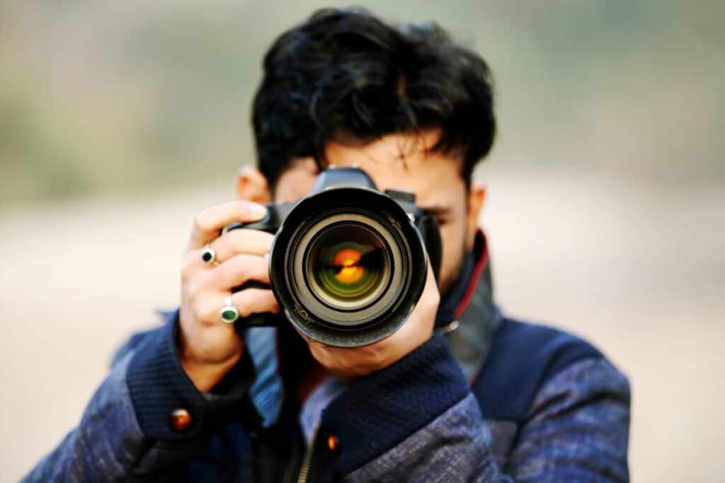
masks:
<path id="1" fill-rule="evenodd" d="M 305 198 L 267 208 L 265 219 L 228 225 L 222 234 L 251 228 L 275 235 L 271 288 L 286 318 L 312 340 L 336 347 L 383 340 L 421 297 L 426 258 L 438 276 L 441 239 L 434 214 L 418 207 L 413 193 L 382 193 L 357 167 L 329 167 Z M 270 315 L 236 324 L 275 324 Z"/>

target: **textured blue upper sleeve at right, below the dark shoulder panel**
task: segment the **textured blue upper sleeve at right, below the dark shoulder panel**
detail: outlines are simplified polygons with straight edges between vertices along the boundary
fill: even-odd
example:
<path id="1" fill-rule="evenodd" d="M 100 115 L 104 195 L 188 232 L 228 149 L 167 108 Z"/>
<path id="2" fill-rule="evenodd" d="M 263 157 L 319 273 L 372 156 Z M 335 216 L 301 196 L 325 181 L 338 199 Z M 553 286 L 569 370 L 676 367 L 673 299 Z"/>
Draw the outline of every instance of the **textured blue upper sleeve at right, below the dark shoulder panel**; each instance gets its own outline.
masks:
<path id="1" fill-rule="evenodd" d="M 539 390 L 508 455 L 518 482 L 628 482 L 629 383 L 604 358 L 571 364 Z"/>

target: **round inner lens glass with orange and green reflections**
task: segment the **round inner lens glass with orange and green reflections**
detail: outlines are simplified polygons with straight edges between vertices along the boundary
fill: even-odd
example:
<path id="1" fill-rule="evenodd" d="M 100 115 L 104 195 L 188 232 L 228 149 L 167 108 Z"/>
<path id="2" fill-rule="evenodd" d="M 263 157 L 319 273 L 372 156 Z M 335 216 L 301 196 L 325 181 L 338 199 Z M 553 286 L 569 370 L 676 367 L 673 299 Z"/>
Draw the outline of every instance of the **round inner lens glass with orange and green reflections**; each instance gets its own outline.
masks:
<path id="1" fill-rule="evenodd" d="M 307 272 L 312 293 L 338 309 L 374 303 L 390 278 L 385 246 L 380 235 L 361 224 L 326 227 L 310 243 Z"/>

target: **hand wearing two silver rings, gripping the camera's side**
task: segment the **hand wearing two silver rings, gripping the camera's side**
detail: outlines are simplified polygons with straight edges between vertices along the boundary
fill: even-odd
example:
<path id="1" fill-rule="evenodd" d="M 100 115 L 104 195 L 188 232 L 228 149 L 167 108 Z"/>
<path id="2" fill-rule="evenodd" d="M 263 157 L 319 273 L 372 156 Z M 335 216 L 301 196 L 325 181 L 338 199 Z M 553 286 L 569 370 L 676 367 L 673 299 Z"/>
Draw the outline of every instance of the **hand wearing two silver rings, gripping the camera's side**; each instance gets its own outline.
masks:
<path id="1" fill-rule="evenodd" d="M 266 256 L 273 235 L 240 229 L 219 236 L 227 224 L 254 222 L 264 216 L 264 206 L 235 200 L 204 209 L 194 220 L 181 271 L 178 345 L 181 366 L 200 391 L 217 385 L 244 350 L 244 341 L 234 324 L 220 319 L 225 297 L 231 295 L 240 317 L 279 311 L 272 290 L 247 288 L 231 293 L 233 287 L 251 280 L 269 283 Z M 202 261 L 207 243 L 216 252 L 219 264 Z"/>

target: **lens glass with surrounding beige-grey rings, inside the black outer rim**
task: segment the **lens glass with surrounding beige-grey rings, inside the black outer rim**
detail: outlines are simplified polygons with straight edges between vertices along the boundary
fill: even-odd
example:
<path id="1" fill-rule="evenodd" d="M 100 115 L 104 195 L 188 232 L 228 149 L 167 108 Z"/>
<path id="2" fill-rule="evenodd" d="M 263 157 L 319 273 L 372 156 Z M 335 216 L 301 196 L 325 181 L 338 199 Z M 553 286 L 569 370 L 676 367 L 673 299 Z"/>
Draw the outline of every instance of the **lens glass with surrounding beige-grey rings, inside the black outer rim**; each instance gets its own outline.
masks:
<path id="1" fill-rule="evenodd" d="M 286 279 L 320 324 L 365 326 L 397 306 L 405 290 L 406 248 L 376 214 L 323 212 L 299 232 L 289 248 Z"/>

